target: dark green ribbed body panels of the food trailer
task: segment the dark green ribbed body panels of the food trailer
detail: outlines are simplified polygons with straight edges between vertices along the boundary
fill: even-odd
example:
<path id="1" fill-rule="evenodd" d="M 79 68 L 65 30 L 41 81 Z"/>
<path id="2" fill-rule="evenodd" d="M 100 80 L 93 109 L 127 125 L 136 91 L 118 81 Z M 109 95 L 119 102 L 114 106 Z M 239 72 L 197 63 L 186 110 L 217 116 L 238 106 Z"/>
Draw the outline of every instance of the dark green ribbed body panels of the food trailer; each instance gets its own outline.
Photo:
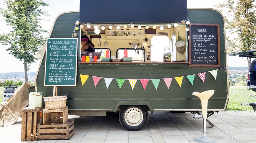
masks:
<path id="1" fill-rule="evenodd" d="M 74 23 L 79 12 L 61 14 L 55 21 L 49 38 L 72 38 Z M 218 23 L 220 66 L 189 66 L 187 62 L 97 62 L 84 63 L 77 59 L 76 86 L 58 86 L 58 95 L 67 95 L 70 114 L 105 115 L 117 112 L 123 106 L 144 106 L 148 111 L 201 111 L 201 102 L 192 92 L 215 90 L 208 101 L 208 111 L 224 111 L 228 102 L 228 76 L 225 46 L 225 27 L 221 13 L 213 9 L 188 9 L 190 23 Z M 71 32 L 70 32 L 71 31 Z M 78 40 L 79 42 L 79 40 Z M 78 46 L 79 49 L 79 46 Z M 187 51 L 187 54 L 189 51 Z M 36 77 L 36 91 L 45 96 L 53 95 L 53 86 L 44 86 L 45 61 L 43 54 Z M 216 79 L 212 71 L 217 70 Z M 198 76 L 205 73 L 204 82 Z M 81 75 L 88 75 L 82 83 Z M 192 82 L 188 77 L 193 76 Z M 93 76 L 100 77 L 96 87 Z M 175 77 L 183 77 L 180 86 Z M 105 79 L 112 81 L 108 88 Z M 164 79 L 171 80 L 168 87 Z M 125 79 L 121 87 L 117 79 Z M 129 79 L 138 79 L 134 89 Z M 142 80 L 148 80 L 144 89 Z M 160 81 L 159 81 L 160 80 Z M 157 82 L 156 82 L 157 81 Z M 156 86 L 156 83 L 159 84 Z M 95 113 L 95 114 L 93 114 Z"/>

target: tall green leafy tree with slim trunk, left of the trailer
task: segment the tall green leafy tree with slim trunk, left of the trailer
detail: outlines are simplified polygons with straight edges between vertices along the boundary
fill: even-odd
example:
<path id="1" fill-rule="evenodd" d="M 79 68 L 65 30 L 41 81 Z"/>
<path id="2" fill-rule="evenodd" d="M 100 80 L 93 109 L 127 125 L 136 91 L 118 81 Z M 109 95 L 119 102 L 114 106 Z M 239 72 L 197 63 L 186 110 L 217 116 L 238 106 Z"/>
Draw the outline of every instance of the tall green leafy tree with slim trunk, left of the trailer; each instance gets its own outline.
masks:
<path id="1" fill-rule="evenodd" d="M 0 13 L 13 30 L 0 34 L 0 42 L 10 45 L 7 51 L 23 61 L 25 81 L 28 82 L 29 66 L 35 62 L 34 55 L 46 42 L 42 33 L 47 31 L 40 25 L 40 20 L 49 15 L 40 7 L 48 4 L 42 0 L 5 0 L 5 3 L 7 8 L 1 8 Z"/>

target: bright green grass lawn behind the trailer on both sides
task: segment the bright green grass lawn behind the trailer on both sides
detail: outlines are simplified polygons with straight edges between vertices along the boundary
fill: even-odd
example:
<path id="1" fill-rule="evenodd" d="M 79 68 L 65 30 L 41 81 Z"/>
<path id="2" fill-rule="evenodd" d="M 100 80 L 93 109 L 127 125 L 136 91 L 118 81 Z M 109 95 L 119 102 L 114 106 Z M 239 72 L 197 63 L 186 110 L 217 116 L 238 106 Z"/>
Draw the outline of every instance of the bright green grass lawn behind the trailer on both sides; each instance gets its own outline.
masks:
<path id="1" fill-rule="evenodd" d="M 0 103 L 3 101 L 4 87 L 0 87 Z M 251 106 L 242 106 L 241 103 L 256 103 L 256 92 L 248 90 L 244 86 L 232 86 L 229 88 L 229 101 L 226 110 L 253 110 Z"/>

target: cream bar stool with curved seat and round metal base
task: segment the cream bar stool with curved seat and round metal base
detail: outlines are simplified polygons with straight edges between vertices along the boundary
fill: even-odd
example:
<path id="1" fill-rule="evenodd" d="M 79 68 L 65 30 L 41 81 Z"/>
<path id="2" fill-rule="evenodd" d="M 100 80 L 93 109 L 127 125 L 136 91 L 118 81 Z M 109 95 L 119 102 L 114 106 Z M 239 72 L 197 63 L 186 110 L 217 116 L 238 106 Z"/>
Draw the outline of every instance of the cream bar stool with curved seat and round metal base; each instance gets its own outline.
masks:
<path id="1" fill-rule="evenodd" d="M 207 106 L 209 98 L 214 94 L 214 90 L 207 90 L 201 93 L 193 92 L 193 95 L 199 97 L 202 106 L 202 115 L 194 115 L 193 118 L 203 118 L 203 136 L 194 138 L 199 143 L 216 143 L 217 140 L 209 138 L 206 133 Z"/>

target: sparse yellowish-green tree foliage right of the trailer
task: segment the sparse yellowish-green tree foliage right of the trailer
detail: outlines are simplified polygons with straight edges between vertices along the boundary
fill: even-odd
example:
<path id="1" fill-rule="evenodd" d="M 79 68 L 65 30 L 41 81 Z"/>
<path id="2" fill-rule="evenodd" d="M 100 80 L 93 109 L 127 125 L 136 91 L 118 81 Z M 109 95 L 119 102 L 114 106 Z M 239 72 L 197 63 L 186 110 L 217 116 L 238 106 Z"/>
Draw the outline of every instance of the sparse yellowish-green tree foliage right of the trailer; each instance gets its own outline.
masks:
<path id="1" fill-rule="evenodd" d="M 232 42 L 240 51 L 256 50 L 256 6 L 253 3 L 254 0 L 226 0 L 226 3 L 217 5 L 227 14 L 226 28 L 231 34 L 237 34 Z"/>

